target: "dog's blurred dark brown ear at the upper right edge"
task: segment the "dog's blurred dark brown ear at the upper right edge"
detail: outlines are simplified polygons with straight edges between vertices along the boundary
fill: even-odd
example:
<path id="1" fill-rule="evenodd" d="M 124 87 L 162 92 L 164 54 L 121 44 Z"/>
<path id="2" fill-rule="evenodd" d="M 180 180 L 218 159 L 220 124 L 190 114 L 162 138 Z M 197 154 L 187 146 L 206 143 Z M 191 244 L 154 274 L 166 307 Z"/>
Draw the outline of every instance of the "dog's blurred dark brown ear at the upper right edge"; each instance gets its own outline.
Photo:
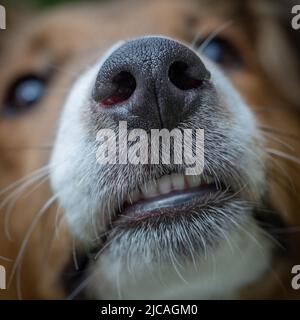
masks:
<path id="1" fill-rule="evenodd" d="M 258 50 L 277 89 L 300 109 L 300 30 L 292 27 L 294 1 L 269 1 L 258 27 Z"/>

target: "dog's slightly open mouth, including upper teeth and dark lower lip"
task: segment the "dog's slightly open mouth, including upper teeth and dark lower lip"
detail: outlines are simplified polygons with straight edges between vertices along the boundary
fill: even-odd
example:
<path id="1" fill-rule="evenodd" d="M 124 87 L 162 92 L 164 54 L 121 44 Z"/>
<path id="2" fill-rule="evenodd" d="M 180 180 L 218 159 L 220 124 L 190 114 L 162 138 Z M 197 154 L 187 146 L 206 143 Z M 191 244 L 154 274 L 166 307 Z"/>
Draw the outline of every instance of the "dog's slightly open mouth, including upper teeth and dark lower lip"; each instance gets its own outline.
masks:
<path id="1" fill-rule="evenodd" d="M 230 187 L 211 176 L 164 175 L 129 193 L 115 221 L 134 226 L 150 219 L 201 214 L 201 210 L 229 200 L 230 194 Z"/>

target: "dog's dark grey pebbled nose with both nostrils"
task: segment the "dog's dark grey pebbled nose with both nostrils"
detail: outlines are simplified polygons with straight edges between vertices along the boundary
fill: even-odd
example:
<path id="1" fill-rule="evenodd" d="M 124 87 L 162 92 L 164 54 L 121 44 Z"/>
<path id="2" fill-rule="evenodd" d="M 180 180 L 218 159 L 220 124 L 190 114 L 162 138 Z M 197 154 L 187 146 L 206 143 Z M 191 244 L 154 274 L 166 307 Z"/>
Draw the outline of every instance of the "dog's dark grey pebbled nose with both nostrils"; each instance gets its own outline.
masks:
<path id="1" fill-rule="evenodd" d="M 168 38 L 120 45 L 103 63 L 93 90 L 97 106 L 134 128 L 174 128 L 193 113 L 210 74 L 199 56 Z"/>

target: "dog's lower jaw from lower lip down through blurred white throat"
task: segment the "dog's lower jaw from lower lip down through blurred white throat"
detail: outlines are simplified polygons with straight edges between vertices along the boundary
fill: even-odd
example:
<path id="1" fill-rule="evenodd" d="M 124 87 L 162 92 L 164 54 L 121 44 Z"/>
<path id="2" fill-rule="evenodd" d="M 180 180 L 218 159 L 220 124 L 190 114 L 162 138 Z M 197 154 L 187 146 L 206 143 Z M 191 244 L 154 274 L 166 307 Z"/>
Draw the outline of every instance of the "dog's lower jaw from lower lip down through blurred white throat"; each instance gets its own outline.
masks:
<path id="1" fill-rule="evenodd" d="M 86 294 L 103 299 L 228 298 L 263 274 L 271 249 L 250 204 L 230 193 L 205 204 L 200 199 L 161 210 L 152 209 L 155 201 L 166 204 L 167 199 L 128 206 L 89 262 L 88 279 L 93 281 Z M 263 254 L 251 237 L 264 246 Z"/>

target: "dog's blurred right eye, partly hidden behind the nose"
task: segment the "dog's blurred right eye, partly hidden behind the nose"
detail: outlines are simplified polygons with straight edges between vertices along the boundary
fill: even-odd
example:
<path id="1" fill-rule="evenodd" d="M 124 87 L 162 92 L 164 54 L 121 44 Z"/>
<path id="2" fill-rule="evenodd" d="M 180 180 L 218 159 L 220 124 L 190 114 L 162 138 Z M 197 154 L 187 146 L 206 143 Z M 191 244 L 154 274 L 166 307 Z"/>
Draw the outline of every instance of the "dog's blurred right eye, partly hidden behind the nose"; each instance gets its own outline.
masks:
<path id="1" fill-rule="evenodd" d="M 208 42 L 205 39 L 199 39 L 197 48 L 199 53 L 225 69 L 240 69 L 244 66 L 244 61 L 238 50 L 225 39 L 215 37 Z"/>

